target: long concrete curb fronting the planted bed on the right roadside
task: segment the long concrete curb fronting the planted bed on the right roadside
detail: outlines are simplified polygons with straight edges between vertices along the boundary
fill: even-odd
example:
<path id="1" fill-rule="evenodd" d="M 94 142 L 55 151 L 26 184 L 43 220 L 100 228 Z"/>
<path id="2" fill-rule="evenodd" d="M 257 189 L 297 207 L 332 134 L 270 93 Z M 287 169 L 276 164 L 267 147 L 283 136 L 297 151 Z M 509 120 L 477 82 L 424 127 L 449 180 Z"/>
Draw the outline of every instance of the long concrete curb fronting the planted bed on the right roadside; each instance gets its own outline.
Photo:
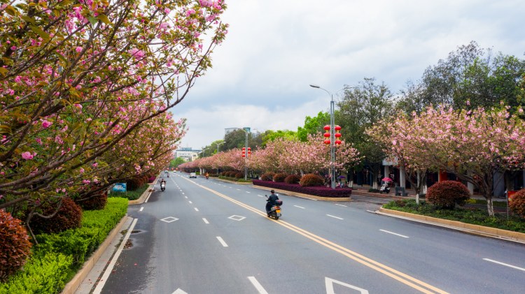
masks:
<path id="1" fill-rule="evenodd" d="M 467 233 L 475 233 L 487 237 L 497 237 L 503 240 L 525 243 L 525 233 L 512 232 L 512 230 L 502 230 L 500 228 L 490 228 L 486 226 L 472 225 L 470 223 L 463 223 L 461 221 L 450 221 L 448 219 L 437 219 L 432 216 L 411 214 L 408 212 L 400 212 L 397 210 L 388 210 L 383 207 L 379 208 L 379 213 L 391 216 L 399 216 L 403 219 L 420 221 L 432 225 L 444 226 L 447 228 L 452 228 L 454 230 L 462 230 Z"/>

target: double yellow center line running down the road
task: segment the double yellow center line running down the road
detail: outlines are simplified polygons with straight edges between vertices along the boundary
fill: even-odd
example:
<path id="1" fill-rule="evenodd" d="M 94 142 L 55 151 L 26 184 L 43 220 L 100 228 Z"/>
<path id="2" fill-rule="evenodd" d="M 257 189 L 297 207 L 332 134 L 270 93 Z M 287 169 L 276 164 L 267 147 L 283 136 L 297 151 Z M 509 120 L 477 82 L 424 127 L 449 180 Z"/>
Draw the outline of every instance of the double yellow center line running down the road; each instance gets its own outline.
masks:
<path id="1" fill-rule="evenodd" d="M 186 178 L 183 178 L 186 179 Z M 264 212 L 255 209 L 254 207 L 251 207 L 249 205 L 246 205 L 244 203 L 241 203 L 238 200 L 235 200 L 233 198 L 230 198 L 228 196 L 225 196 L 222 193 L 219 193 L 218 191 L 215 191 L 213 189 L 209 189 L 206 186 L 202 186 L 200 184 L 197 184 L 190 179 L 186 179 L 193 184 L 200 186 L 202 189 L 205 189 L 207 191 L 210 191 L 211 193 L 216 194 L 217 196 L 220 196 L 226 200 L 229 200 L 232 203 L 235 203 L 241 207 L 246 208 L 246 210 L 250 210 L 251 212 L 255 212 L 255 214 L 259 214 L 260 216 L 267 216 Z M 312 240 L 318 244 L 323 245 L 324 247 L 328 249 L 332 249 L 333 251 L 336 251 L 337 253 L 341 253 L 342 255 L 352 259 L 356 260 L 358 263 L 361 263 L 363 265 L 366 265 L 367 267 L 370 267 L 373 270 L 376 270 L 377 272 L 381 272 L 381 274 L 385 274 L 388 277 L 391 277 L 392 279 L 395 279 L 396 281 L 400 281 L 401 283 L 410 286 L 418 291 L 421 291 L 422 293 L 441 293 L 441 294 L 448 294 L 446 291 L 441 290 L 440 288 L 437 288 L 435 286 L 432 286 L 430 284 L 427 284 L 419 279 L 416 279 L 412 276 L 409 276 L 408 274 L 399 272 L 398 270 L 394 270 L 391 267 L 388 267 L 387 265 L 384 265 L 382 263 L 379 263 L 375 260 L 372 260 L 370 258 L 367 258 L 366 256 L 363 256 L 359 253 L 356 253 L 354 251 L 351 251 L 350 249 L 347 249 L 345 247 L 342 247 L 339 244 L 335 244 L 334 242 L 331 242 L 329 240 L 325 240 L 323 237 L 319 237 L 318 235 L 315 235 L 314 233 L 310 233 L 307 230 L 303 230 L 302 228 L 298 228 L 297 226 L 294 226 L 291 223 L 288 223 L 286 221 L 275 221 L 274 219 L 269 219 L 270 221 L 274 221 L 275 223 L 288 228 L 289 230 L 293 230 L 295 233 L 298 233 L 304 237 L 307 237 L 309 240 Z"/>

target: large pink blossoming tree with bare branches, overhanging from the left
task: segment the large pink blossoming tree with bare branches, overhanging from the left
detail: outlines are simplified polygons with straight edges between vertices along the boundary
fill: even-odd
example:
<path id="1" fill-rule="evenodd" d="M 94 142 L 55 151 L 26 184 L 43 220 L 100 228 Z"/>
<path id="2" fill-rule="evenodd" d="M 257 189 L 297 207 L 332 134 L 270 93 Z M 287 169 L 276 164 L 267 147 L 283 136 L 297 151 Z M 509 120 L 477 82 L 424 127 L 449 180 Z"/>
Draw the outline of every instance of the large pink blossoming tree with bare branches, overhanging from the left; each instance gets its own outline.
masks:
<path id="1" fill-rule="evenodd" d="M 223 1 L 13 3 L 0 6 L 0 208 L 159 168 L 173 145 L 150 149 L 148 133 L 174 126 L 162 119 L 211 66 Z"/>

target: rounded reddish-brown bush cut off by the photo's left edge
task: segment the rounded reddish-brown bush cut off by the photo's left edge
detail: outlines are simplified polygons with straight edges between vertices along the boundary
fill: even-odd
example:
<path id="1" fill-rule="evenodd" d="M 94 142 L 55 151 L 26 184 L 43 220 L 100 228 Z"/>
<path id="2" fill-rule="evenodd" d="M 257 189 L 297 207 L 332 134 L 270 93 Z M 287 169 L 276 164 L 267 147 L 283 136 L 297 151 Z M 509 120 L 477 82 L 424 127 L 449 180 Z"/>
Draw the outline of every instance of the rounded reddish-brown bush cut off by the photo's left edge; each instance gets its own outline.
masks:
<path id="1" fill-rule="evenodd" d="M 22 221 L 0 210 L 0 282 L 20 269 L 29 253 L 31 242 Z"/>

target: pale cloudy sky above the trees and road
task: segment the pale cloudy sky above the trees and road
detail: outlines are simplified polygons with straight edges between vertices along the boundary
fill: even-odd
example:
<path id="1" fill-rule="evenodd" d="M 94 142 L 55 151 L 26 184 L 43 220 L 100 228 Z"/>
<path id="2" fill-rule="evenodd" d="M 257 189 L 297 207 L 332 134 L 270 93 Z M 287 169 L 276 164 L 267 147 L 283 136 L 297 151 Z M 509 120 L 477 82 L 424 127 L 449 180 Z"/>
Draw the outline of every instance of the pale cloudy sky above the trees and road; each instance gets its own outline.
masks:
<path id="1" fill-rule="evenodd" d="M 225 0 L 228 35 L 213 68 L 172 110 L 181 147 L 211 145 L 225 128 L 292 130 L 328 112 L 364 78 L 394 94 L 461 45 L 524 59 L 523 0 Z M 337 124 L 337 122 L 336 122 Z"/>

